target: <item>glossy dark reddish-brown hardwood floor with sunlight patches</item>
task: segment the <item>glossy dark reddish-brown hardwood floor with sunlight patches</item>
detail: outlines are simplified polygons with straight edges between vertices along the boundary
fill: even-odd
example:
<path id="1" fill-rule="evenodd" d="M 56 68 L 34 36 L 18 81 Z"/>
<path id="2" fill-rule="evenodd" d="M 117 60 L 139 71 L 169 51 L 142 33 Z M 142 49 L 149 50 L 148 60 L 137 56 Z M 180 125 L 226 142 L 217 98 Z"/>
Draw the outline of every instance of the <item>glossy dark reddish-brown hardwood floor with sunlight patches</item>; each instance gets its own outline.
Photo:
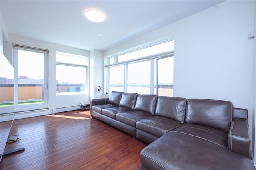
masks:
<path id="1" fill-rule="evenodd" d="M 6 144 L 1 170 L 140 169 L 140 151 L 146 144 L 90 117 L 90 111 L 69 111 L 14 120 L 10 135 L 20 142 Z"/>

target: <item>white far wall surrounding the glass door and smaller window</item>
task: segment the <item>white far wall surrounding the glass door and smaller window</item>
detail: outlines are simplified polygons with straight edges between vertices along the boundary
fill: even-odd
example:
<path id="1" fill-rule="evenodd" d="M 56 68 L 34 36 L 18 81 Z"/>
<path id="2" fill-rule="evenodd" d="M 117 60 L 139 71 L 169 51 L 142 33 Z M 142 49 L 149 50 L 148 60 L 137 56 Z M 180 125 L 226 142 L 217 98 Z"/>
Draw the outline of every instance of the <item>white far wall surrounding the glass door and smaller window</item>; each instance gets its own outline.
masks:
<path id="1" fill-rule="evenodd" d="M 56 51 L 71 53 L 82 56 L 90 56 L 90 51 L 75 49 L 72 47 L 66 47 L 63 45 L 57 45 L 53 43 L 43 42 L 40 40 L 34 40 L 30 38 L 24 38 L 20 36 L 14 36 L 12 34 L 8 35 L 8 42 L 4 43 L 4 51 L 7 58 L 10 58 L 12 55 L 12 43 L 26 45 L 30 47 L 36 47 L 41 49 L 49 50 L 49 59 L 48 59 L 48 93 L 49 93 L 49 110 L 51 113 L 55 113 L 55 109 L 62 107 L 73 107 L 79 106 L 80 103 L 87 104 L 90 103 L 90 95 L 81 94 L 81 95 L 59 95 L 56 96 L 56 65 L 55 65 L 55 53 Z M 7 51 L 6 51 L 7 50 Z M 79 109 L 80 107 L 76 107 Z M 63 110 L 62 110 L 63 111 Z M 32 114 L 30 114 L 32 115 Z M 34 115 L 36 116 L 36 115 Z"/>

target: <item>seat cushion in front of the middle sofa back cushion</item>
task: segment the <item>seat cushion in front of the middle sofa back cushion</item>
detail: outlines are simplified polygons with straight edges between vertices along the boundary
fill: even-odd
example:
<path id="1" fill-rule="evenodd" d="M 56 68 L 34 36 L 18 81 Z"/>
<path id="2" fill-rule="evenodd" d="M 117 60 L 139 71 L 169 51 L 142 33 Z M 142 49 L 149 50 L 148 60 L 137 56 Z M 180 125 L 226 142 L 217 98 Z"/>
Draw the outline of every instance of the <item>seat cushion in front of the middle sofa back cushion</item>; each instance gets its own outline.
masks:
<path id="1" fill-rule="evenodd" d="M 130 125 L 132 127 L 136 127 L 136 122 L 147 118 L 152 117 L 150 113 L 144 112 L 144 111 L 129 111 L 129 112 L 122 112 L 116 114 L 116 120 L 125 123 L 127 125 Z"/>

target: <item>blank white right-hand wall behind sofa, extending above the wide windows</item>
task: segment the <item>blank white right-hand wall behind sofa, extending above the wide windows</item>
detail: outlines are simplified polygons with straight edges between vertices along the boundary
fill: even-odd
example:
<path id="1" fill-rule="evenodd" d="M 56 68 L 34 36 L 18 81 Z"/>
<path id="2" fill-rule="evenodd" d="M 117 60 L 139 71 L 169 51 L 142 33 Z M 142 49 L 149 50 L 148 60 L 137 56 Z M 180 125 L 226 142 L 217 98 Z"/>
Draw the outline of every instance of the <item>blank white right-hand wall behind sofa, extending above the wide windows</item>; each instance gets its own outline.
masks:
<path id="1" fill-rule="evenodd" d="M 226 1 L 105 51 L 174 37 L 174 96 L 228 100 L 255 124 L 254 1 Z M 254 139 L 254 134 L 252 138 Z"/>

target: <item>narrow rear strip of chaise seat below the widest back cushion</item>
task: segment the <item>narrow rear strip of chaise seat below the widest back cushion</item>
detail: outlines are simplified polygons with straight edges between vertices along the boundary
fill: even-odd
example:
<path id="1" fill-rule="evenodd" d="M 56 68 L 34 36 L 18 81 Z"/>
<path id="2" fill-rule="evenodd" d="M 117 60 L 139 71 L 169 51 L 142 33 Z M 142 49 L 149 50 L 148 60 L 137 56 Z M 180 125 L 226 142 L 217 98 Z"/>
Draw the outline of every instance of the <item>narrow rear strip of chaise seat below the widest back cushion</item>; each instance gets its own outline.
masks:
<path id="1" fill-rule="evenodd" d="M 225 149 L 228 147 L 228 134 L 216 128 L 206 127 L 202 125 L 195 125 L 191 123 L 185 123 L 180 127 L 174 129 L 174 131 L 188 134 L 190 136 L 194 136 L 204 140 L 208 140 Z"/>

